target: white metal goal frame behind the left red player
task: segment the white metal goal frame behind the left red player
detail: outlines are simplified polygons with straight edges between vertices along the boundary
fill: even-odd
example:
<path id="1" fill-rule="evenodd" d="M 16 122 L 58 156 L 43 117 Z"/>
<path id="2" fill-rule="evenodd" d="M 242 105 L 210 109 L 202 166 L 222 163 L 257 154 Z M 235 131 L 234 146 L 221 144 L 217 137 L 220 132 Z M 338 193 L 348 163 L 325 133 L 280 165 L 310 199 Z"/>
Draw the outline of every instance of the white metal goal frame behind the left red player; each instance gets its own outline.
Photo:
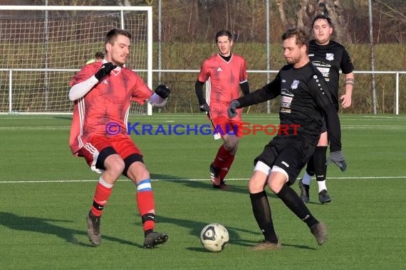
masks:
<path id="1" fill-rule="evenodd" d="M 147 72 L 147 85 L 152 90 L 152 6 L 0 6 L 0 11 L 120 11 L 121 15 L 121 28 L 125 29 L 124 25 L 124 12 L 125 11 L 146 11 L 147 12 L 147 70 L 134 70 L 140 72 Z M 13 69 L 13 68 L 0 68 L 0 71 L 9 72 L 9 112 L 12 111 L 13 102 L 13 85 L 12 76 L 13 71 L 29 71 L 30 69 Z M 32 71 L 44 72 L 58 72 L 58 71 L 73 71 L 71 69 L 31 69 Z M 21 114 L 72 114 L 72 112 L 18 112 Z M 1 114 L 1 112 L 0 112 Z M 147 115 L 152 115 L 152 105 L 147 103 Z"/>

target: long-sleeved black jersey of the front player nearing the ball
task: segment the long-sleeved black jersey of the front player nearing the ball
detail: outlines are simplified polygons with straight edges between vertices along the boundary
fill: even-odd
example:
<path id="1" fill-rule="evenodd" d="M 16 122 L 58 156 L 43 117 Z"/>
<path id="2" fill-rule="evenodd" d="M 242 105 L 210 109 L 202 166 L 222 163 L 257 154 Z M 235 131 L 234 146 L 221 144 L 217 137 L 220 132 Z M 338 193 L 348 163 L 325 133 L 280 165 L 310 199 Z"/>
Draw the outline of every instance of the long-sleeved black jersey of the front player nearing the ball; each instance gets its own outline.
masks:
<path id="1" fill-rule="evenodd" d="M 293 129 L 298 136 L 320 135 L 323 113 L 332 151 L 340 151 L 340 120 L 327 89 L 321 72 L 308 62 L 301 68 L 285 65 L 268 85 L 237 100 L 239 107 L 247 107 L 281 95 L 279 119 L 281 124 L 291 127 L 288 136 L 294 135 Z"/>

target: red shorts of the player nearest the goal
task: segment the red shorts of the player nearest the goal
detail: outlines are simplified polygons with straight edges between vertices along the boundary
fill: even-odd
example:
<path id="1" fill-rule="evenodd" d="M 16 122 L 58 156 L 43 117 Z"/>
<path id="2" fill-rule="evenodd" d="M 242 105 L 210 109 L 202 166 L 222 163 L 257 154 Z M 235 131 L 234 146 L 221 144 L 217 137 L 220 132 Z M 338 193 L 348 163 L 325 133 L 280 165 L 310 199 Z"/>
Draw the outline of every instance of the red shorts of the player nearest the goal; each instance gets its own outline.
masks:
<path id="1" fill-rule="evenodd" d="M 80 148 L 78 156 L 83 156 L 85 158 L 92 171 L 101 173 L 102 171 L 96 168 L 96 162 L 98 161 L 99 153 L 107 147 L 113 147 L 115 152 L 123 159 L 132 154 L 142 156 L 140 149 L 135 146 L 130 136 L 126 135 L 116 135 L 111 137 L 91 136 L 88 143 Z"/>

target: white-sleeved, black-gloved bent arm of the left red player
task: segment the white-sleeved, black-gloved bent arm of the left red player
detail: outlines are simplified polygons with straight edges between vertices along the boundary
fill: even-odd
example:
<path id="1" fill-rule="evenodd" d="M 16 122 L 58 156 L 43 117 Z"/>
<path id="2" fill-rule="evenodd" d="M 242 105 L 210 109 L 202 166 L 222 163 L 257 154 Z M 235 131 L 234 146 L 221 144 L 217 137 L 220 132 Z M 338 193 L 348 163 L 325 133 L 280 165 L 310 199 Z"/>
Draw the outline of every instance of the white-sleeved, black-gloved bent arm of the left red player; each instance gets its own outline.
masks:
<path id="1" fill-rule="evenodd" d="M 100 70 L 90 78 L 72 86 L 68 94 L 69 99 L 73 101 L 84 97 L 101 79 L 103 79 L 103 77 L 109 75 L 111 70 L 114 70 L 115 68 L 117 68 L 117 65 L 113 65 L 113 63 L 103 64 Z"/>

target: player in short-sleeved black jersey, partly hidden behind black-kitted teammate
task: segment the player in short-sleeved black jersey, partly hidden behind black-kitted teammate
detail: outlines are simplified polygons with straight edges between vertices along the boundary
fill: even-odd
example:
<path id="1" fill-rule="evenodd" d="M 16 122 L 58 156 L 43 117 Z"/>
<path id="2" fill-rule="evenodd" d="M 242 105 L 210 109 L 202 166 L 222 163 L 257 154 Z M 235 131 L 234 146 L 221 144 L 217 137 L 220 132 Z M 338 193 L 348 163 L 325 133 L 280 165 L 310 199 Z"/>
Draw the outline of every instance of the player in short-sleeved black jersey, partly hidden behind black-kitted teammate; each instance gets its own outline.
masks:
<path id="1" fill-rule="evenodd" d="M 321 72 L 326 80 L 330 95 L 333 98 L 335 108 L 338 110 L 338 102 L 341 100 L 341 106 L 343 108 L 350 107 L 351 95 L 354 86 L 354 67 L 351 63 L 350 56 L 345 50 L 343 45 L 335 41 L 330 41 L 330 35 L 333 33 L 333 26 L 330 18 L 324 15 L 318 15 L 313 18 L 312 23 L 313 40 L 308 45 L 308 57 L 316 68 Z M 338 95 L 340 70 L 345 75 L 345 93 L 340 98 Z M 318 183 L 318 200 L 321 203 L 327 203 L 331 201 L 331 197 L 328 194 L 326 186 L 326 151 L 328 147 L 328 134 L 326 132 L 326 126 L 323 127 L 320 140 L 316 150 L 314 151 L 313 158 L 310 159 L 306 167 L 306 173 L 299 181 L 299 187 L 301 189 L 301 199 L 303 202 L 309 202 L 309 188 L 311 177 L 316 175 Z M 330 149 L 331 150 L 331 149 Z M 330 155 L 327 163 L 333 161 L 337 164 L 341 171 L 345 171 L 347 165 L 343 162 L 342 156 Z"/>

